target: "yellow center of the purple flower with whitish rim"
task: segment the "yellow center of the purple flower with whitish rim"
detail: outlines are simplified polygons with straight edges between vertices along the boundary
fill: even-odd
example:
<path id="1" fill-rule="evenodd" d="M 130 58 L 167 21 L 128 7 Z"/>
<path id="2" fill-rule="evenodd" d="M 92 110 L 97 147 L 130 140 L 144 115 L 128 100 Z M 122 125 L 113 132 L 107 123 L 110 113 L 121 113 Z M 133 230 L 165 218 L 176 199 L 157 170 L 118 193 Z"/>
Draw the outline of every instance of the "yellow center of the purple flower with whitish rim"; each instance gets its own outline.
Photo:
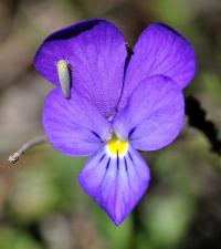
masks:
<path id="1" fill-rule="evenodd" d="M 128 142 L 122 141 L 114 134 L 106 144 L 106 151 L 112 157 L 124 157 L 128 149 Z"/>

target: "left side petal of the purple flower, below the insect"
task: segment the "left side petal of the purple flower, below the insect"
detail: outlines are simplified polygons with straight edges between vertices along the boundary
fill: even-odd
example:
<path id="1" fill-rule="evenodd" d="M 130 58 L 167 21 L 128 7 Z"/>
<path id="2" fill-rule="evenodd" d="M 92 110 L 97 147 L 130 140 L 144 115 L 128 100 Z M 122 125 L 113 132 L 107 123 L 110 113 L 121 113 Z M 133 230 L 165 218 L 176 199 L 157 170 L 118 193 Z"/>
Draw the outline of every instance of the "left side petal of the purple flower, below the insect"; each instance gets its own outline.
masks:
<path id="1" fill-rule="evenodd" d="M 92 155 L 109 139 L 112 127 L 96 106 L 72 91 L 66 100 L 53 90 L 43 106 L 43 127 L 54 148 L 67 156 Z"/>

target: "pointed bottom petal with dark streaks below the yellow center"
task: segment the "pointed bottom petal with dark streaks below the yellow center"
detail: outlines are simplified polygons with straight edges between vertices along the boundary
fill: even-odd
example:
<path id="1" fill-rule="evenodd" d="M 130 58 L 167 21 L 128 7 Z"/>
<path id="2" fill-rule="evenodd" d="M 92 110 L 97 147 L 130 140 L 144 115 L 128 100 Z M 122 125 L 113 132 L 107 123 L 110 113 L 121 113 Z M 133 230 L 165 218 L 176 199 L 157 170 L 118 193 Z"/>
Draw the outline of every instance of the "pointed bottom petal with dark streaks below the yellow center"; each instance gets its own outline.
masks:
<path id="1" fill-rule="evenodd" d="M 146 191 L 150 172 L 131 146 L 123 157 L 112 157 L 105 148 L 94 154 L 78 175 L 82 188 L 118 226 Z"/>

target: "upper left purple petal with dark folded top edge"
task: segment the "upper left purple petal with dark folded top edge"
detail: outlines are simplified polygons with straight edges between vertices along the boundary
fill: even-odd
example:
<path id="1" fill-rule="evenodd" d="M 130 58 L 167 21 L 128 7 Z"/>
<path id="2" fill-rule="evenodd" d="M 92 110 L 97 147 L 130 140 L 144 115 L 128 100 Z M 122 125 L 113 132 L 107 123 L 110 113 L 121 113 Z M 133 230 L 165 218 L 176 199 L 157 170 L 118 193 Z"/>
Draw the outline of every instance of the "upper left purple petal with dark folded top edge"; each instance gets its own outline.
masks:
<path id="1" fill-rule="evenodd" d="M 72 86 L 108 116 L 122 93 L 126 56 L 120 31 L 105 20 L 93 19 L 51 34 L 36 52 L 34 65 L 59 85 L 56 64 L 66 61 Z"/>

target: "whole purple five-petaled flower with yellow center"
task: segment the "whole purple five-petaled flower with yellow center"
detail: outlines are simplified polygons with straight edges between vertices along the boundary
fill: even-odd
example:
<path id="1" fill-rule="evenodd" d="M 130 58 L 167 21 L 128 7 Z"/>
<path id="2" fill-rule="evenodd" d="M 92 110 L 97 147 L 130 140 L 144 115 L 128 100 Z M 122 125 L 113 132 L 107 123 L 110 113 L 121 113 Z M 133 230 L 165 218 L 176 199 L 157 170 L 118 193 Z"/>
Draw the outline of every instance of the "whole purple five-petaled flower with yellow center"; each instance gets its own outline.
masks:
<path id="1" fill-rule="evenodd" d="M 154 23 L 128 60 L 119 30 L 93 19 L 46 38 L 34 65 L 59 86 L 43 107 L 49 141 L 67 156 L 91 156 L 78 181 L 119 225 L 150 181 L 138 151 L 162 148 L 182 128 L 182 89 L 196 70 L 190 43 L 171 28 Z M 72 86 L 70 98 L 63 97 L 63 82 Z"/>

